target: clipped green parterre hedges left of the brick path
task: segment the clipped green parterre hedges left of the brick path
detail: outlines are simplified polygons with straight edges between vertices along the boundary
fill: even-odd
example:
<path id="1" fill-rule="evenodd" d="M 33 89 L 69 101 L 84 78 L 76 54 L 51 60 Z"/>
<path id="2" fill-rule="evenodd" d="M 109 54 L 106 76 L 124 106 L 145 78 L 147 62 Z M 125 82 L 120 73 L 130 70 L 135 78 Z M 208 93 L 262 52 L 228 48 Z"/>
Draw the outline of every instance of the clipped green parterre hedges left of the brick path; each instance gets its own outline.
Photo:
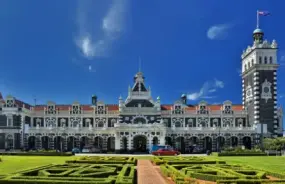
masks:
<path id="1" fill-rule="evenodd" d="M 133 157 L 82 157 L 17 172 L 0 184 L 134 184 L 135 163 Z"/>

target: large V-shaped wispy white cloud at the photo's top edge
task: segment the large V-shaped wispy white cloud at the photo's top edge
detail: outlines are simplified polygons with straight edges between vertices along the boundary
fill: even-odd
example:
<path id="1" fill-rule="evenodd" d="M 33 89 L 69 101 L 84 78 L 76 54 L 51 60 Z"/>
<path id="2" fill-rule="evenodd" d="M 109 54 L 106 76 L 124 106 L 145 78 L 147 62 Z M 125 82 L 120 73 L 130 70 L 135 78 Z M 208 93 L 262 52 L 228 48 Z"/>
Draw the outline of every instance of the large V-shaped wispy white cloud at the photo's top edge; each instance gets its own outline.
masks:
<path id="1" fill-rule="evenodd" d="M 124 31 L 125 17 L 129 0 L 113 0 L 106 11 L 99 26 L 100 34 L 92 29 L 93 22 L 88 12 L 96 11 L 92 0 L 79 1 L 77 13 L 78 34 L 75 44 L 87 59 L 107 56 L 114 40 L 118 39 Z M 88 2 L 88 3 L 87 3 Z M 96 26 L 95 26 L 96 27 Z"/>

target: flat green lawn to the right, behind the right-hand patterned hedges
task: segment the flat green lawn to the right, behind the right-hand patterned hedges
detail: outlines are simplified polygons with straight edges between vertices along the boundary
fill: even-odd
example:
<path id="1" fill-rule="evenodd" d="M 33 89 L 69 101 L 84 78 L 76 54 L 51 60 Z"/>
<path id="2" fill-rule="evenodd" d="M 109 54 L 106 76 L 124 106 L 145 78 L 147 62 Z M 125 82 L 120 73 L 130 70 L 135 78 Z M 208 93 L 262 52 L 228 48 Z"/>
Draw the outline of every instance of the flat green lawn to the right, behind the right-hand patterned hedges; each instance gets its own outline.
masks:
<path id="1" fill-rule="evenodd" d="M 214 157 L 214 156 L 213 156 Z M 245 164 L 255 168 L 285 174 L 284 156 L 250 156 L 250 157 L 215 157 L 224 160 L 229 164 Z"/>

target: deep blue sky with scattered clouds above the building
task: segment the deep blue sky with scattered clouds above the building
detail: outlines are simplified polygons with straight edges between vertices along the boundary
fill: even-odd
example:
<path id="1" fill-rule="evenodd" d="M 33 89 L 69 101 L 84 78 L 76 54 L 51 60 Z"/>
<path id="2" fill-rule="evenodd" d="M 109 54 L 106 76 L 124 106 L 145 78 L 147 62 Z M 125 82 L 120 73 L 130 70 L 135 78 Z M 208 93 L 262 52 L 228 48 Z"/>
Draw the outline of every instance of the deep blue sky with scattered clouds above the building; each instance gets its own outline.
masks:
<path id="1" fill-rule="evenodd" d="M 281 4 L 283 3 L 283 5 Z M 0 91 L 26 102 L 106 103 L 127 96 L 139 58 L 153 97 L 241 103 L 241 53 L 260 27 L 279 45 L 284 104 L 285 2 L 272 0 L 2 0 Z"/>

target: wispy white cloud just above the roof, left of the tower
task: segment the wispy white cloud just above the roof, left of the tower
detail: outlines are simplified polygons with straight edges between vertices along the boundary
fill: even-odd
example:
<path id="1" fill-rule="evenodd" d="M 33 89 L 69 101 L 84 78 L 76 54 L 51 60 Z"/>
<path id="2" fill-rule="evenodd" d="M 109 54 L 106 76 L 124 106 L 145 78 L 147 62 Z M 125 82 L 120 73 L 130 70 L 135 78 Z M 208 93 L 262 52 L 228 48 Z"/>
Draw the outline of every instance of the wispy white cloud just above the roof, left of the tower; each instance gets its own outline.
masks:
<path id="1" fill-rule="evenodd" d="M 203 84 L 202 88 L 194 93 L 190 93 L 187 95 L 189 100 L 195 101 L 198 99 L 210 99 L 215 98 L 211 94 L 215 93 L 218 89 L 224 88 L 224 82 L 218 79 L 214 79 L 212 81 L 207 81 Z"/>

